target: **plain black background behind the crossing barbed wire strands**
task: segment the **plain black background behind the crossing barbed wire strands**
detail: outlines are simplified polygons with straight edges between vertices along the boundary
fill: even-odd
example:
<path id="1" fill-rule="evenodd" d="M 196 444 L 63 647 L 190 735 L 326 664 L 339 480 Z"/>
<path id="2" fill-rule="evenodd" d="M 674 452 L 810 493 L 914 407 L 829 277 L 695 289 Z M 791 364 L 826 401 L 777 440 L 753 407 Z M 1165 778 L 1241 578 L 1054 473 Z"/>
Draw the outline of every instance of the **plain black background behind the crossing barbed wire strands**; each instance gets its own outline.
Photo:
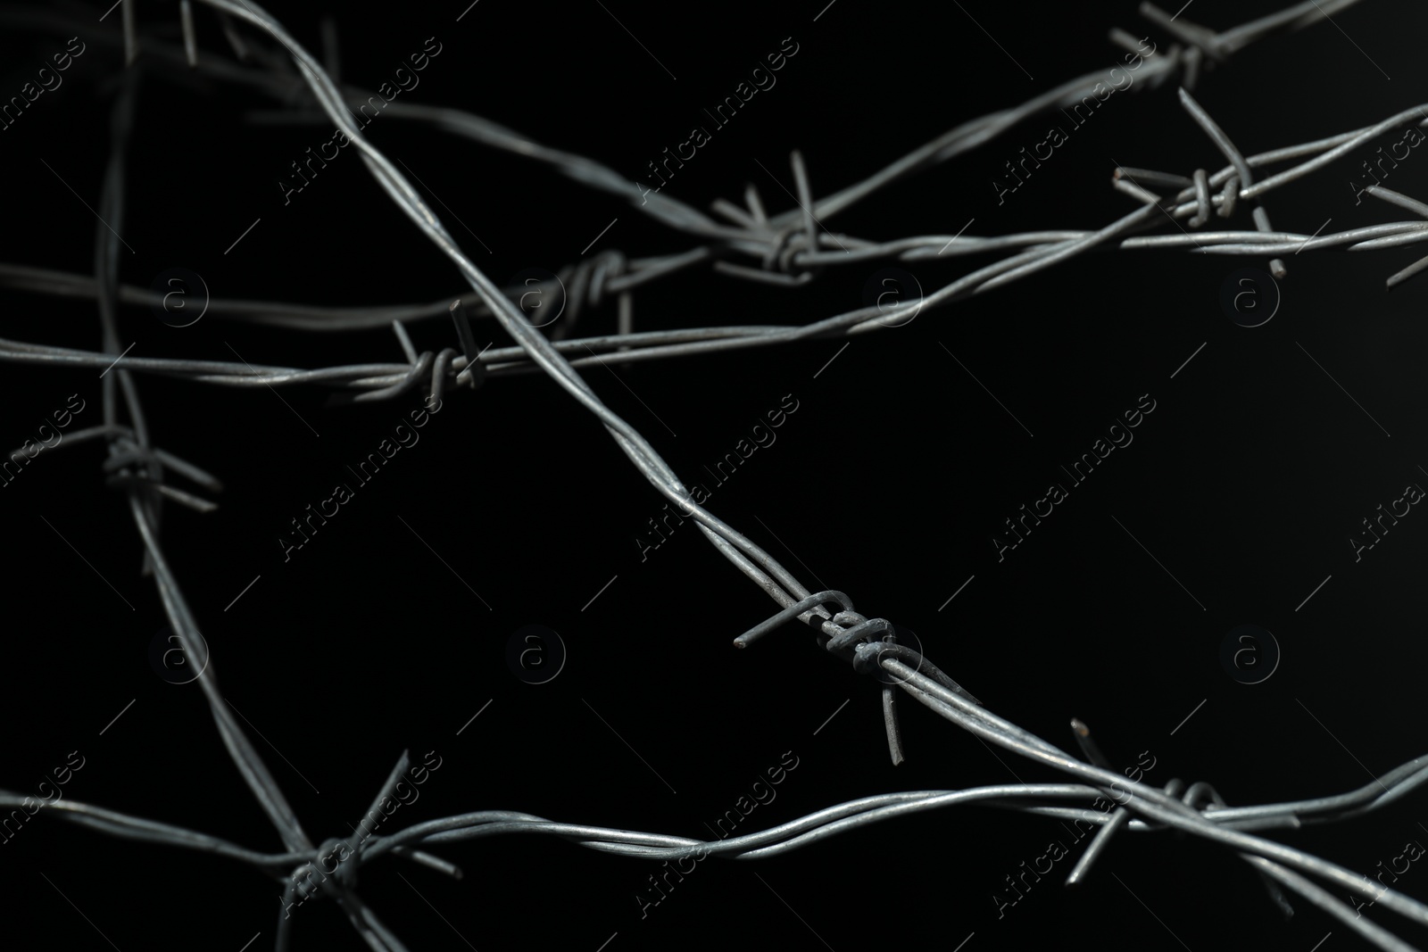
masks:
<path id="1" fill-rule="evenodd" d="M 468 110 L 627 178 L 645 177 L 691 126 L 708 126 L 703 110 L 793 37 L 798 53 L 777 86 L 714 131 L 667 188 L 708 208 L 717 197 L 741 203 L 754 183 L 771 213 L 791 206 L 793 148 L 815 194 L 828 194 L 968 118 L 1110 70 L 1122 57 L 1105 39 L 1111 27 L 1171 46 L 1128 0 L 837 0 L 814 21 L 823 3 L 481 0 L 460 23 L 464 3 L 274 13 L 314 53 L 321 19 L 334 13 L 341 79 L 366 88 L 436 37 L 441 53 L 400 101 Z M 1184 16 L 1227 29 L 1281 6 L 1198 0 Z M 76 26 L 7 20 L 0 94 L 19 93 L 66 37 L 87 49 L 63 87 L 0 131 L 0 260 L 91 274 L 104 226 L 83 203 L 97 207 L 110 150 L 120 14 L 99 23 L 100 7 L 50 11 Z M 231 59 L 213 11 L 198 6 L 196 19 L 200 56 Z M 1365 1 L 1334 24 L 1251 46 L 1202 74 L 1195 96 L 1245 154 L 1368 126 L 1428 100 L 1425 20 L 1412 4 Z M 177 43 L 176 4 L 146 3 L 139 21 L 146 37 Z M 119 227 L 133 248 L 121 254 L 124 284 L 147 287 L 184 267 L 221 298 L 370 305 L 464 290 L 354 157 L 334 160 L 284 206 L 277 180 L 330 137 L 328 123 L 263 121 L 283 104 L 153 53 L 134 69 L 146 73 Z M 1092 228 L 1134 208 L 1111 190 L 1117 163 L 1185 176 L 1224 164 L 1174 83 L 1137 84 L 998 206 L 992 177 L 1041 141 L 1048 121 L 1062 124 L 1022 123 L 825 224 L 867 240 L 952 236 L 968 220 L 967 234 L 980 236 Z M 641 216 L 637 198 L 593 193 L 418 123 L 381 117 L 366 134 L 438 197 L 433 208 L 498 283 L 580 260 L 611 220 L 590 254 L 697 244 Z M 1355 204 L 1348 183 L 1372 150 L 1361 153 L 1271 193 L 1274 226 L 1312 234 L 1325 220 L 1338 231 L 1405 218 L 1382 203 Z M 1428 160 L 1414 153 L 1384 184 L 1428 194 Z M 1231 227 L 1251 227 L 1247 208 Z M 797 400 L 777 441 L 715 488 L 708 508 L 810 589 L 843 589 L 868 617 L 915 631 L 1002 716 L 1067 746 L 1067 724 L 1080 716 L 1118 766 L 1148 752 L 1151 782 L 1210 781 L 1234 805 L 1322 796 L 1424 752 L 1428 517 L 1415 508 L 1358 562 L 1347 542 L 1378 504 L 1428 480 L 1428 285 L 1384 290 L 1419 254 L 1287 255 L 1278 313 L 1244 328 L 1222 313 L 1221 285 L 1264 260 L 1104 250 L 857 335 L 841 354 L 843 343 L 823 340 L 585 377 L 691 482 L 708 484 L 701 467 L 785 397 Z M 990 260 L 900 267 L 930 293 Z M 694 268 L 635 294 L 635 328 L 805 324 L 861 305 L 885 264 L 830 267 L 803 288 Z M 93 301 L 6 290 L 3 314 L 6 338 L 100 350 Z M 134 357 L 401 360 L 390 330 L 303 333 L 218 317 L 173 328 L 130 305 L 120 327 Z M 614 327 L 607 300 L 577 334 Z M 410 333 L 421 350 L 457 345 L 444 317 Z M 488 320 L 476 334 L 481 347 L 508 344 Z M 317 385 L 278 388 L 278 400 L 264 387 L 136 380 L 156 445 L 226 484 L 210 515 L 166 507 L 163 545 L 221 694 L 314 841 L 350 832 L 403 749 L 417 762 L 436 751 L 441 768 L 398 826 L 514 809 L 707 836 L 705 825 L 788 752 L 798 766 L 740 832 L 878 792 L 1060 779 L 1008 752 L 992 756 L 911 702 L 901 705 L 908 761 L 894 768 L 877 685 L 818 652 L 807 631 L 731 648 L 773 602 L 693 527 L 641 561 L 635 535 L 663 497 L 543 375 L 450 394 L 420 442 L 287 562 L 277 538 L 288 521 L 347 481 L 344 465 L 374 451 L 418 398 L 333 408 Z M 74 393 L 87 401 L 77 427 L 101 417 L 89 368 L 7 364 L 3 381 L 9 445 Z M 1060 467 L 1142 394 L 1155 410 L 1134 442 L 998 562 L 990 540 L 1002 521 L 1065 482 Z M 166 684 L 150 667 L 164 614 L 139 574 L 126 497 L 103 490 L 103 458 L 99 442 L 46 451 L 0 490 L 11 554 L 0 784 L 30 794 L 77 749 L 86 765 L 67 796 L 278 851 L 197 685 Z M 510 635 L 528 624 L 555 629 L 568 651 L 544 685 L 523 684 L 506 662 Z M 1282 649 L 1261 684 L 1238 684 L 1221 667 L 1221 642 L 1241 624 L 1267 628 Z M 1371 872 L 1428 836 L 1421 804 L 1411 795 L 1344 826 L 1274 836 Z M 47 946 L 100 949 L 107 938 L 126 951 L 237 951 L 258 932 L 253 948 L 273 939 L 280 888 L 251 868 L 46 815 L 27 826 L 0 846 L 6 945 L 44 936 Z M 968 952 L 1091 936 L 1115 948 L 1307 952 L 1329 932 L 1327 951 L 1361 945 L 1302 901 L 1285 922 L 1245 864 L 1165 834 L 1117 836 L 1078 892 L 1060 885 L 1074 864 L 1061 861 L 998 918 L 992 893 L 1051 839 L 1067 835 L 1042 818 L 924 814 L 768 861 L 704 862 L 645 918 L 635 893 L 648 891 L 657 864 L 548 836 L 433 848 L 461 865 L 461 882 L 396 859 L 373 864 L 360 889 L 411 949 L 594 951 L 614 936 L 611 952 L 841 952 L 874 936 L 957 948 L 972 935 Z M 1428 873 L 1415 865 L 1397 886 L 1428 896 Z M 1367 915 L 1421 941 L 1397 916 Z M 297 948 L 363 948 L 330 902 L 294 916 Z"/>

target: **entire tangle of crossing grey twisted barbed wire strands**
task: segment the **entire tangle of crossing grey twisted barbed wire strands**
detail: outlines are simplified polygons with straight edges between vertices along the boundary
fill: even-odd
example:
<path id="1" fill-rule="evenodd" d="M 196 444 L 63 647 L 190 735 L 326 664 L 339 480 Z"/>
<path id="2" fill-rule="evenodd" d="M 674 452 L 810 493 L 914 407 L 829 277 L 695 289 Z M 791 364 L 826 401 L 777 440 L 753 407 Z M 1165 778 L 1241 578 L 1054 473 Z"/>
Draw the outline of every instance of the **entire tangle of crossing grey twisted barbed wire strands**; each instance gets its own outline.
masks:
<path id="1" fill-rule="evenodd" d="M 1351 906 L 1299 873 L 1312 875 L 1349 893 L 1382 902 L 1385 908 L 1418 925 L 1428 925 L 1428 905 L 1387 886 L 1375 889 L 1365 876 L 1355 876 L 1347 868 L 1255 836 L 1248 831 L 1294 829 L 1304 824 L 1338 822 L 1391 804 L 1428 781 L 1428 755 L 1408 761 L 1374 784 L 1347 794 L 1255 806 L 1228 806 L 1212 786 L 1202 782 L 1187 788 L 1175 779 L 1164 788 L 1155 788 L 1144 782 L 1128 781 L 1107 769 L 1104 758 L 1100 758 L 1094 745 L 1090 744 L 1088 729 L 1080 722 L 1074 722 L 1075 736 L 1081 742 L 1085 759 L 1074 758 L 1061 748 L 981 707 L 975 698 L 947 674 L 931 665 L 918 651 L 897 644 L 892 627 L 887 619 L 860 615 L 853 609 L 851 599 L 843 592 L 831 589 L 810 592 L 753 540 L 695 502 L 693 494 L 654 447 L 634 427 L 605 407 L 575 371 L 577 367 L 583 365 L 605 364 L 608 363 L 607 355 L 624 363 L 878 330 L 887 327 L 883 324 L 884 320 L 905 317 L 908 311 L 914 311 L 914 307 L 920 310 L 950 304 L 972 294 L 995 290 L 1092 250 L 1194 245 L 1195 251 L 1205 254 L 1278 255 L 1297 254 L 1311 248 L 1374 250 L 1422 241 L 1428 237 L 1428 206 L 1381 186 L 1372 186 L 1364 191 L 1407 208 L 1424 220 L 1387 223 L 1335 234 L 1302 236 L 1272 230 L 1261 198 L 1279 186 L 1324 168 L 1364 141 L 1405 120 L 1422 116 L 1418 126 L 1428 126 L 1428 113 L 1424 113 L 1424 107 L 1399 111 L 1364 128 L 1245 157 L 1188 91 L 1194 87 L 1202 69 L 1225 61 L 1230 54 L 1250 43 L 1272 31 L 1308 26 L 1318 21 L 1319 14 L 1327 16 L 1342 10 L 1357 0 L 1325 0 L 1324 3 L 1309 0 L 1309 3 L 1295 4 L 1224 33 L 1214 33 L 1188 20 L 1181 20 L 1178 16 L 1170 17 L 1152 4 L 1142 4 L 1141 11 L 1151 21 L 1185 44 L 1184 47 L 1172 47 L 1160 60 L 1148 60 L 1150 71 L 1142 76 L 1152 79 L 1152 87 L 1177 73 L 1182 76 L 1180 97 L 1184 108 L 1221 150 L 1228 164 L 1214 174 L 1197 168 L 1188 177 L 1118 167 L 1112 187 L 1137 198 L 1140 207 L 1102 228 L 1035 231 L 1000 237 L 975 237 L 958 233 L 951 237 L 921 236 L 881 243 L 820 233 L 823 218 L 853 206 L 885 184 L 925 171 L 931 166 L 984 144 L 1040 110 L 1077 101 L 1081 96 L 1088 94 L 1090 81 L 1097 79 L 1095 74 L 1090 74 L 1071 80 L 1018 108 L 991 113 L 965 123 L 864 181 L 821 200 L 814 200 L 803 157 L 795 151 L 791 156 L 791 167 L 797 188 L 797 207 L 773 217 L 764 213 L 763 200 L 753 187 L 745 193 L 745 208 L 727 201 L 715 203 L 714 211 L 733 224 L 715 223 L 670 196 L 655 194 L 648 203 L 641 201 L 638 207 L 645 210 L 645 214 L 677 231 L 704 238 L 708 243 L 678 254 L 633 261 L 625 260 L 618 253 L 604 253 L 567 268 L 564 273 L 574 288 L 573 301 L 588 301 L 591 305 L 598 305 L 604 295 L 614 294 L 620 298 L 621 308 L 620 324 L 624 333 L 577 340 L 548 340 L 538 333 L 538 328 L 524 320 L 511 295 L 491 283 L 476 263 L 460 250 L 440 218 L 427 207 L 410 183 L 351 123 L 347 103 L 353 101 L 356 93 L 350 87 L 338 88 L 323 66 L 274 17 L 246 1 L 200 1 L 224 16 L 226 36 L 238 59 L 258 60 L 267 69 L 243 69 L 217 61 L 207 54 L 200 60 L 188 0 L 183 0 L 180 6 L 184 33 L 183 61 L 190 67 L 201 66 L 214 76 L 258 86 L 283 97 L 291 97 L 298 84 L 306 84 L 326 116 L 323 121 L 334 123 L 358 147 L 363 163 L 373 177 L 418 230 L 458 267 L 473 293 L 464 293 L 456 298 L 447 297 L 440 303 L 426 305 L 378 308 L 320 308 L 234 300 L 210 304 L 216 317 L 277 325 L 287 330 L 348 331 L 390 324 L 398 337 L 407 358 L 406 363 L 290 368 L 251 365 L 241 358 L 240 363 L 228 363 L 127 357 L 117 333 L 117 307 L 121 303 L 153 305 L 157 295 L 143 288 L 121 287 L 117 280 L 119 228 L 124 218 L 124 156 L 134 123 L 134 93 L 139 76 L 136 70 L 126 71 L 113 111 L 114 144 L 100 198 L 99 217 L 101 223 L 107 221 L 109 224 L 96 228 L 96 277 L 91 280 L 27 265 L 0 265 L 0 284 L 44 294 L 94 298 L 103 328 L 103 351 L 0 340 L 0 360 L 54 368 L 109 367 L 114 371 L 113 375 L 106 374 L 103 378 L 104 424 L 79 431 L 71 435 L 70 441 L 83 442 L 100 438 L 109 441 L 106 471 L 111 474 L 110 482 L 120 485 L 129 494 L 130 512 L 143 540 L 144 572 L 154 577 L 166 615 L 184 652 L 203 659 L 204 671 L 197 679 L 207 698 L 220 738 L 258 805 L 278 831 L 286 852 L 261 854 L 207 834 L 76 801 L 51 804 L 57 816 L 113 836 L 198 849 L 247 862 L 284 883 L 284 912 L 294 902 L 306 901 L 321 892 L 343 908 L 370 948 L 388 952 L 403 952 L 406 946 L 380 922 L 356 892 L 358 866 L 384 852 L 398 854 L 413 862 L 457 878 L 461 872 L 456 865 L 417 849 L 417 846 L 500 834 L 541 834 L 561 836 L 603 852 L 648 859 L 670 861 L 703 855 L 763 859 L 848 829 L 962 804 L 984 804 L 1098 826 L 1097 836 L 1081 856 L 1068 882 L 1081 881 L 1088 873 L 1095 858 L 1104 852 L 1118 829 L 1152 832 L 1172 828 L 1228 846 L 1254 865 L 1257 871 L 1345 922 L 1379 948 L 1392 951 L 1412 948 L 1387 929 L 1352 915 Z M 133 3 L 124 4 L 121 41 L 129 63 L 134 61 L 140 49 L 133 10 Z M 31 24 L 53 20 L 53 17 L 30 14 L 24 17 L 7 14 L 6 19 L 23 19 Z M 297 66 L 298 76 L 288 71 L 291 67 L 281 56 L 244 41 L 230 20 L 244 21 L 286 47 L 287 53 L 291 54 L 291 61 Z M 113 37 L 106 39 L 113 40 Z M 1128 34 L 1121 31 L 1112 31 L 1111 39 L 1121 46 L 1134 43 Z M 1134 47 L 1131 49 L 1134 50 Z M 173 60 L 180 56 L 177 49 L 151 43 L 147 39 L 144 40 L 144 53 Z M 637 190 L 638 183 L 625 181 L 588 158 L 537 146 L 518 133 L 504 130 L 468 113 L 397 104 L 393 114 L 427 121 L 486 146 L 516 151 L 536 161 L 547 163 L 581 184 L 611 194 L 623 194 L 634 204 L 630 198 L 630 190 Z M 308 117 L 300 116 L 298 118 L 308 121 Z M 1295 158 L 1305 161 L 1264 178 L 1258 178 L 1252 173 L 1252 170 Z M 1151 188 L 1171 188 L 1174 191 L 1171 196 L 1162 197 Z M 1211 188 L 1220 191 L 1212 194 Z M 1228 218 L 1238 203 L 1255 203 L 1251 213 L 1255 224 L 1252 231 L 1185 231 L 1184 226 L 1180 224 L 1181 220 L 1185 220 L 1191 228 L 1200 228 L 1210 223 L 1212 214 Z M 1135 233 L 1160 227 L 1162 216 L 1168 217 L 1181 233 L 1137 237 Z M 834 251 L 835 247 L 841 254 Z M 934 247 L 938 250 L 934 251 Z M 1017 251 L 1018 248 L 1020 251 Z M 951 281 L 917 304 L 887 310 L 864 307 L 795 327 L 740 325 L 634 333 L 630 320 L 633 288 L 644 281 L 661 278 L 703 263 L 710 263 L 713 270 L 733 277 L 778 284 L 805 284 L 814 278 L 818 268 L 825 265 L 885 257 L 911 261 L 941 257 L 948 251 L 951 255 L 960 255 L 998 250 L 1014 251 L 994 264 Z M 754 268 L 728 261 L 728 255 L 747 255 L 750 260 L 758 261 L 761 267 Z M 1422 267 L 1428 267 L 1428 258 L 1388 278 L 1388 285 L 1394 287 Z M 1271 271 L 1277 277 L 1282 277 L 1285 274 L 1282 261 L 1272 258 Z M 564 285 L 564 278 L 560 280 L 560 284 Z M 484 357 L 476 353 L 463 305 L 471 305 L 473 313 L 478 317 L 493 317 L 517 345 L 490 351 L 490 355 Z M 430 351 L 417 354 L 406 335 L 403 323 L 438 317 L 443 310 L 456 321 L 461 351 L 446 348 L 437 354 Z M 565 354 L 580 350 L 588 350 L 590 355 L 574 360 L 565 357 Z M 440 398 L 446 387 L 463 384 L 474 387 L 486 375 L 496 377 L 536 370 L 553 377 L 571 397 L 601 420 L 620 448 L 651 485 L 681 507 L 683 512 L 695 518 L 710 542 L 780 605 L 781 611 L 737 638 L 737 647 L 747 647 L 775 628 L 797 619 L 814 629 L 820 647 L 851 661 L 855 671 L 883 675 L 880 679 L 883 681 L 884 722 L 894 764 L 902 759 L 894 702 L 900 688 L 957 726 L 1084 782 L 1014 784 L 962 791 L 883 794 L 828 806 L 758 834 L 723 841 L 563 824 L 511 811 L 481 811 L 414 824 L 384 836 L 361 838 L 360 834 L 354 832 L 346 839 L 326 839 L 314 845 L 263 759 L 224 707 L 217 688 L 217 672 L 207 652 L 203 651 L 197 619 L 188 608 L 177 577 L 159 542 L 164 500 L 177 501 L 200 511 L 213 508 L 204 500 L 169 487 L 164 482 L 166 468 L 210 491 L 221 490 L 221 482 L 180 457 L 151 445 L 133 374 L 151 373 L 178 377 L 190 383 L 237 387 L 323 384 L 338 390 L 360 391 L 354 400 L 386 400 L 418 387 L 427 374 L 431 374 L 430 394 Z M 127 425 L 119 421 L 120 398 L 123 398 L 127 411 Z M 835 605 L 835 608 L 830 609 L 828 605 Z M 407 766 L 408 758 L 403 754 L 374 801 L 374 808 L 376 804 L 391 796 Z M 1084 806 L 1062 805 L 1065 802 L 1097 802 L 1104 796 L 1110 796 L 1117 804 L 1117 809 L 1100 812 Z M 1122 796 L 1124 799 L 1121 799 Z M 0 805 L 24 806 L 26 799 L 30 798 L 0 791 Z M 1132 815 L 1134 818 L 1131 818 Z M 348 855 L 338 859 L 338 851 Z M 327 859 L 336 859 L 333 869 L 323 865 Z M 347 865 L 343 865 L 344 862 Z M 313 876 L 317 872 L 331 875 L 314 883 Z M 1271 888 L 1271 895 L 1282 902 L 1275 888 Z M 280 919 L 277 936 L 280 951 L 288 945 L 288 921 L 287 915 Z"/>

